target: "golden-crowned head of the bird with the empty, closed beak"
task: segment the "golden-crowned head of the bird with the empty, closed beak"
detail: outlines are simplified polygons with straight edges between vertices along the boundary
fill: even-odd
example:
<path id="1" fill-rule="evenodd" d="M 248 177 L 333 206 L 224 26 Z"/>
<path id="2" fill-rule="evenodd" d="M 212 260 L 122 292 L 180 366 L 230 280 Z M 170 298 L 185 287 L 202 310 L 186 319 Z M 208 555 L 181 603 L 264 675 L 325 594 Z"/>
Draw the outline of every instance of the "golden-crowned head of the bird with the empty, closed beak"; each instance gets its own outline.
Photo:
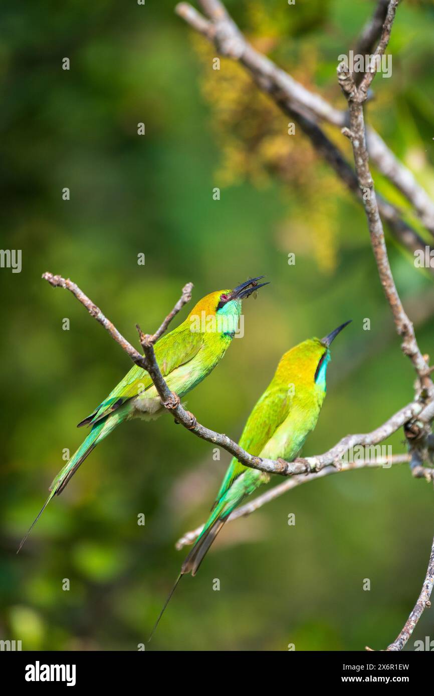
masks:
<path id="1" fill-rule="evenodd" d="M 316 384 L 325 391 L 327 365 L 330 362 L 330 345 L 338 333 L 345 329 L 350 322 L 351 319 L 338 326 L 334 331 L 327 333 L 324 338 L 309 338 L 291 348 L 279 364 L 283 374 L 289 374 L 290 379 L 303 381 L 307 386 Z"/>

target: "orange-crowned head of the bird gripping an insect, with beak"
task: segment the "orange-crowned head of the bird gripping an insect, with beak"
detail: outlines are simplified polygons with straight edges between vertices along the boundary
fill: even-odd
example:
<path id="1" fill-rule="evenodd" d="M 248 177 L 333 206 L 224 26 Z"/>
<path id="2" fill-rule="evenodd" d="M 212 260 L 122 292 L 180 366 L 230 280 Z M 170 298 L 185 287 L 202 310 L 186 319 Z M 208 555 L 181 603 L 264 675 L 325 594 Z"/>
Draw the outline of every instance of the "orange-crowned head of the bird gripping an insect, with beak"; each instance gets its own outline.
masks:
<path id="1" fill-rule="evenodd" d="M 268 285 L 268 283 L 258 283 L 258 280 L 263 277 L 249 278 L 245 283 L 240 283 L 234 287 L 233 290 L 210 292 L 199 300 L 187 317 L 190 322 L 197 323 L 199 320 L 202 328 L 194 330 L 215 331 L 212 326 L 215 325 L 217 319 L 217 331 L 219 331 L 219 326 L 223 326 L 222 333 L 233 333 L 238 324 L 238 317 L 240 317 L 242 299 L 249 297 L 259 287 Z"/>

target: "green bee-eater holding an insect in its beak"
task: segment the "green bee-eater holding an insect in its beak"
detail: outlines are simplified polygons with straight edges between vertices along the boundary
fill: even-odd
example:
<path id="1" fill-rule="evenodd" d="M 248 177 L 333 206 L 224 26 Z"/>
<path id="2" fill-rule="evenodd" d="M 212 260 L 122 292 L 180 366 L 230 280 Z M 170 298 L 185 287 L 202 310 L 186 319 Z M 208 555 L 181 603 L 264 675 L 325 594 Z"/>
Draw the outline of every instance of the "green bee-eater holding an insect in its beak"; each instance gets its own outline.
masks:
<path id="1" fill-rule="evenodd" d="M 268 285 L 258 284 L 263 277 L 249 278 L 233 290 L 219 290 L 206 295 L 194 306 L 185 322 L 157 341 L 155 358 L 158 366 L 169 389 L 179 397 L 208 377 L 222 360 L 238 327 L 241 301 L 259 287 Z M 148 372 L 134 365 L 107 399 L 77 425 L 89 425 L 91 432 L 55 477 L 49 487 L 49 496 L 22 539 L 18 551 L 49 501 L 54 495 L 60 495 L 80 464 L 100 441 L 125 420 L 150 420 L 161 409 L 160 397 Z"/>

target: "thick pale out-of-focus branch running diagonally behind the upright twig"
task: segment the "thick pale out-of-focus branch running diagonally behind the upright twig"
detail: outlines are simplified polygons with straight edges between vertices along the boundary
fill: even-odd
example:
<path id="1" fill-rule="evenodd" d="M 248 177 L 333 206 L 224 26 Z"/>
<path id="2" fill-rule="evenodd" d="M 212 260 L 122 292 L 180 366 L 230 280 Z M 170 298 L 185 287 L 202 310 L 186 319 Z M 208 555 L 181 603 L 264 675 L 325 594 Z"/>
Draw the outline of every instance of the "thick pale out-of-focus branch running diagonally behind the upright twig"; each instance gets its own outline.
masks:
<path id="1" fill-rule="evenodd" d="M 323 97 L 311 93 L 302 84 L 293 79 L 290 74 L 278 68 L 273 61 L 257 52 L 247 42 L 219 0 L 212 0 L 212 2 L 201 0 L 200 4 L 212 21 L 200 15 L 191 5 L 185 2 L 176 6 L 176 13 L 185 19 L 185 22 L 192 26 L 193 29 L 206 36 L 208 40 L 215 42 L 217 49 L 223 56 L 239 61 L 247 72 L 251 74 L 258 87 L 270 94 L 284 113 L 299 122 L 300 116 L 304 116 L 305 121 L 310 121 L 311 125 L 317 129 L 319 129 L 318 125 L 316 125 L 318 119 L 330 122 L 339 128 L 346 125 L 346 111 L 335 109 Z M 304 132 L 311 137 L 305 127 L 306 123 L 303 125 L 300 122 L 300 125 Z M 367 142 L 375 166 L 392 181 L 396 188 L 403 193 L 403 196 L 408 198 L 421 221 L 434 235 L 434 203 L 428 196 L 428 193 L 417 182 L 410 170 L 396 159 L 373 129 L 368 130 Z M 315 145 L 316 143 L 313 144 Z M 332 143 L 330 145 L 334 148 L 335 159 L 337 156 L 343 159 L 338 148 L 332 145 Z M 332 164 L 330 159 L 327 159 L 327 161 Z M 340 175 L 338 169 L 335 168 L 335 171 Z M 348 180 L 344 178 L 344 181 L 348 185 Z M 387 219 L 394 236 L 402 244 L 406 244 L 411 251 L 414 251 L 414 248 L 424 248 L 426 246 L 425 242 L 420 239 L 417 232 L 408 223 L 403 221 L 398 209 L 387 201 L 385 201 L 385 205 L 388 207 L 389 214 L 387 216 L 383 210 L 382 214 Z M 394 211 L 393 214 L 392 209 Z M 403 230 L 405 230 L 405 235 Z"/>

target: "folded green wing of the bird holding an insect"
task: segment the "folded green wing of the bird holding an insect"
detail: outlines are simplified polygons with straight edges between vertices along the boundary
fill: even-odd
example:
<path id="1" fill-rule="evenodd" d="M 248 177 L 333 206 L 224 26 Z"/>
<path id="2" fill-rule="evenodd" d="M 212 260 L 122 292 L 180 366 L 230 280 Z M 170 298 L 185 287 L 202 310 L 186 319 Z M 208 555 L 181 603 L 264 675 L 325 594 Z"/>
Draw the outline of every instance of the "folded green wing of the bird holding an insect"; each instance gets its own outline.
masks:
<path id="1" fill-rule="evenodd" d="M 155 345 L 155 358 L 163 377 L 167 377 L 176 367 L 185 365 L 199 352 L 203 345 L 203 333 L 191 331 L 190 323 L 183 322 L 177 329 L 163 336 Z M 90 416 L 79 422 L 82 425 L 95 425 L 109 416 L 129 399 L 146 391 L 153 382 L 146 370 L 134 365 L 122 381 L 109 393 L 108 397 Z"/>

